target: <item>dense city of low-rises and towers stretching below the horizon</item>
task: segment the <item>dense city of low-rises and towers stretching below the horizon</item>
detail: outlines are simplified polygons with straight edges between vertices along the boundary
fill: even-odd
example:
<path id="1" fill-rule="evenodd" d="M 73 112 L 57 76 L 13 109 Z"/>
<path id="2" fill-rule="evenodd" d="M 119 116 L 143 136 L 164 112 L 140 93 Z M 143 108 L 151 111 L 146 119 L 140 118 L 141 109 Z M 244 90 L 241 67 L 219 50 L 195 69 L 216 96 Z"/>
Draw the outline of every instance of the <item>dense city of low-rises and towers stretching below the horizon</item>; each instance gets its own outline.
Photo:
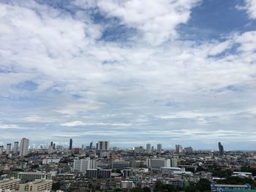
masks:
<path id="1" fill-rule="evenodd" d="M 0 191 L 256 191 L 256 151 L 73 142 L 1 145 Z"/>

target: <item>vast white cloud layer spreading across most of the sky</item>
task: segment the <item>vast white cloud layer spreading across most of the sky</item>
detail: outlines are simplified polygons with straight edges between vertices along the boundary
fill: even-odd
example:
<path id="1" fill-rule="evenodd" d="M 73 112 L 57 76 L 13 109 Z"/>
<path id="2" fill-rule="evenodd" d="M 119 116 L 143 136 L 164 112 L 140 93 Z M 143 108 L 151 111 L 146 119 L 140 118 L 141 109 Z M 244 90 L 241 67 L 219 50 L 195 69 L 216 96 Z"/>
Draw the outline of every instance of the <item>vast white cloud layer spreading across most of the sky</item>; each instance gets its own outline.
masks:
<path id="1" fill-rule="evenodd" d="M 176 140 L 191 135 L 203 140 L 215 126 L 234 133 L 240 130 L 238 112 L 248 112 L 241 122 L 244 132 L 251 131 L 255 31 L 230 35 L 224 42 L 199 44 L 174 38 L 176 26 L 189 20 L 197 1 L 75 2 L 75 6 L 98 7 L 109 17 L 120 18 L 118 24 L 137 28 L 140 33 L 135 39 L 143 39 L 119 44 L 100 39 L 105 24 L 95 24 L 82 10 L 70 15 L 29 2 L 0 4 L 0 71 L 4 71 L 0 94 L 17 99 L 0 100 L 0 115 L 17 126 L 34 124 L 23 131 L 28 137 L 35 130 L 40 133 L 37 139 L 49 139 L 43 134 L 54 128 L 50 139 L 59 135 L 60 141 L 61 137 L 80 137 L 80 131 L 86 133 L 94 126 L 90 137 L 97 139 L 110 129 L 106 135 L 114 142 L 132 143 L 140 136 L 143 142 L 155 136 L 150 131 L 157 131 L 156 139 L 164 141 L 180 128 L 184 130 L 174 135 Z M 168 39 L 172 41 L 165 42 Z M 234 45 L 236 54 L 208 57 Z M 26 80 L 35 82 L 36 90 L 17 88 Z M 60 125 L 72 127 L 73 132 L 59 133 L 61 128 L 67 131 Z M 1 133 L 11 138 L 7 128 Z M 211 134 L 211 142 L 224 135 L 223 131 Z"/>

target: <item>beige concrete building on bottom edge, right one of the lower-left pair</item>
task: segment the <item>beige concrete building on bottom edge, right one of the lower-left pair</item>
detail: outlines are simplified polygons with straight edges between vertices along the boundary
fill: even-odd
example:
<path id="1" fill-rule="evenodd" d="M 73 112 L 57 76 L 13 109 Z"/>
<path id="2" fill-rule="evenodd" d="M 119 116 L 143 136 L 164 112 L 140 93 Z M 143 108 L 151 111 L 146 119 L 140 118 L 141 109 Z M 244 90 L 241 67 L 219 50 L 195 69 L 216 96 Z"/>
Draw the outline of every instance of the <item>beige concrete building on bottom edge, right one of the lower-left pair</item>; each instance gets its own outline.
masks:
<path id="1" fill-rule="evenodd" d="M 34 180 L 29 183 L 20 184 L 20 191 L 51 191 L 53 180 Z"/>

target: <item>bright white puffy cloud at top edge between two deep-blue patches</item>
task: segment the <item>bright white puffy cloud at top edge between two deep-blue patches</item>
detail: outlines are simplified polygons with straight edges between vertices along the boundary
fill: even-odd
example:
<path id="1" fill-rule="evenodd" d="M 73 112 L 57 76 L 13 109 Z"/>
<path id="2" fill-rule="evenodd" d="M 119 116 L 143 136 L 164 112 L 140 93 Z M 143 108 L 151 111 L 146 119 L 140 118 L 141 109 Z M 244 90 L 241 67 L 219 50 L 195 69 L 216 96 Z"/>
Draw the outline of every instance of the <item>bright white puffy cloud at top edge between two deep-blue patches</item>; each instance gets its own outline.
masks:
<path id="1" fill-rule="evenodd" d="M 198 0 L 132 0 L 98 1 L 97 6 L 110 17 L 120 18 L 124 24 L 136 28 L 143 39 L 159 45 L 177 37 L 178 24 L 187 23 L 192 7 Z"/>

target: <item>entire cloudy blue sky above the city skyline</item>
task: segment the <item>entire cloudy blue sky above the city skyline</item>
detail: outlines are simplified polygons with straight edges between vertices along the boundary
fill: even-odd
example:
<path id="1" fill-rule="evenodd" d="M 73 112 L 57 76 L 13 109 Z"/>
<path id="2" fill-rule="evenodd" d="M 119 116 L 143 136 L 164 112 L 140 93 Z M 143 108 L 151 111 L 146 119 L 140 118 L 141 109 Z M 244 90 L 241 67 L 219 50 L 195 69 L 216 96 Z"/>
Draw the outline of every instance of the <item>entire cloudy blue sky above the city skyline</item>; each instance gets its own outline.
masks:
<path id="1" fill-rule="evenodd" d="M 255 0 L 0 0 L 0 144 L 256 150 Z"/>

